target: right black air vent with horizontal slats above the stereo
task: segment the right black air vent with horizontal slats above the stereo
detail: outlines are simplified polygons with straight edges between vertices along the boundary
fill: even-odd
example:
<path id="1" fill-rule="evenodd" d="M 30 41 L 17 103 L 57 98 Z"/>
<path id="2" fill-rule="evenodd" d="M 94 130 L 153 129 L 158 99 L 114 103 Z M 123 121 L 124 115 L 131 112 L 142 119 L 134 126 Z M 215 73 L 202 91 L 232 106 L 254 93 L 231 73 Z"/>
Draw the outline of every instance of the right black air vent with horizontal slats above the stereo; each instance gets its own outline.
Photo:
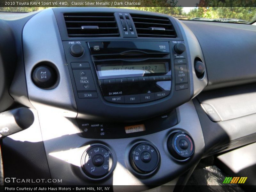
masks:
<path id="1" fill-rule="evenodd" d="M 139 37 L 177 37 L 171 21 L 166 17 L 131 14 Z"/>

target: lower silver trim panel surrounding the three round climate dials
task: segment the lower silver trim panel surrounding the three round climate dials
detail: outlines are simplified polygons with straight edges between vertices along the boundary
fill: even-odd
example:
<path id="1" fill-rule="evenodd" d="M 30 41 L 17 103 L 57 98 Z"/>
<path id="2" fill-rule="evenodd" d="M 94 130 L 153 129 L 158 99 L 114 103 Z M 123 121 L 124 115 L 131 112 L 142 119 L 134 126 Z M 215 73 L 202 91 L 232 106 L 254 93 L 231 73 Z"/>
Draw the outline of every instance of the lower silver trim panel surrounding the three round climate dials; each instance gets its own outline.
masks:
<path id="1" fill-rule="evenodd" d="M 62 185 L 86 185 L 92 182 L 101 185 L 160 185 L 177 178 L 195 165 L 204 152 L 204 137 L 194 104 L 189 101 L 180 106 L 178 111 L 180 123 L 170 129 L 140 137 L 105 140 L 82 138 L 73 119 L 51 116 L 39 111 L 41 132 L 52 178 L 62 179 Z M 187 162 L 178 162 L 168 152 L 166 140 L 173 130 L 184 130 L 194 140 L 195 154 Z M 153 143 L 159 150 L 159 169 L 150 176 L 136 174 L 129 163 L 129 151 L 138 141 Z M 81 169 L 81 157 L 92 144 L 106 145 L 112 152 L 113 166 L 116 167 L 113 174 L 98 182 L 88 179 Z"/>

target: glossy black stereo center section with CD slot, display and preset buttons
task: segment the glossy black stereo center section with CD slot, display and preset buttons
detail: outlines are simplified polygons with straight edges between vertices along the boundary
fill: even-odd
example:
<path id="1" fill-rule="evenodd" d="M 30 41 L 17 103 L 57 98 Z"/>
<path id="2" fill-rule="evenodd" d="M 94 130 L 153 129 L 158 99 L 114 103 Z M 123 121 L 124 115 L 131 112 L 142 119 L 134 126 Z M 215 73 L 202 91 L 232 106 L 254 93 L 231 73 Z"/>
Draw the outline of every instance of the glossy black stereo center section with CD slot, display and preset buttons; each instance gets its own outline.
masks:
<path id="1" fill-rule="evenodd" d="M 144 103 L 169 95 L 171 63 L 168 42 L 88 42 L 105 100 Z"/>

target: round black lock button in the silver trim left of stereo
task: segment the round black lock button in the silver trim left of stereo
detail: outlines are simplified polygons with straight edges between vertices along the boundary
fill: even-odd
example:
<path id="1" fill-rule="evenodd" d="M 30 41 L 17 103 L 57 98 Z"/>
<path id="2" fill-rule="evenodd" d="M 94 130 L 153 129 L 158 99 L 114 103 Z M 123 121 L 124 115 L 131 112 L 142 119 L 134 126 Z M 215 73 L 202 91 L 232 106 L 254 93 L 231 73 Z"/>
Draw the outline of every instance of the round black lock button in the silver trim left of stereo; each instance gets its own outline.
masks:
<path id="1" fill-rule="evenodd" d="M 39 66 L 32 74 L 34 84 L 40 88 L 50 88 L 57 82 L 55 70 L 48 66 Z"/>

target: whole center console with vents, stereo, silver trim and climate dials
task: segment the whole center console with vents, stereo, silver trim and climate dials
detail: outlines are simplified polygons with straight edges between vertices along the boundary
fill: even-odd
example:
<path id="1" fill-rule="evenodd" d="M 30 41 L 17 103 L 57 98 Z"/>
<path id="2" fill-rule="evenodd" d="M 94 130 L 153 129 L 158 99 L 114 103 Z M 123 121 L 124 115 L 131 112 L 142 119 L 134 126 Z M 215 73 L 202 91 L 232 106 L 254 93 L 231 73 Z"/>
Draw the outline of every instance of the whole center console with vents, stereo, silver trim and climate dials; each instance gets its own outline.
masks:
<path id="1" fill-rule="evenodd" d="M 206 86 L 206 72 L 201 81 L 194 70 L 196 58 L 204 62 L 200 45 L 178 20 L 148 12 L 130 11 L 134 19 L 172 22 L 167 30 L 175 29 L 177 36 L 140 37 L 133 24 L 135 35 L 122 36 L 120 9 L 111 8 L 97 10 L 108 12 L 119 34 L 68 36 L 64 13 L 74 24 L 77 15 L 69 13 L 81 16 L 86 10 L 44 10 L 23 30 L 28 96 L 38 111 L 52 178 L 65 185 L 155 185 L 176 179 L 204 151 L 200 122 L 189 102 Z M 98 18 L 94 8 L 88 12 Z M 125 21 L 134 22 L 131 14 L 122 12 Z M 132 32 L 130 27 L 126 32 Z M 37 79 L 49 78 L 51 71 L 38 65 L 42 61 L 56 72 L 54 86 L 40 87 L 32 79 L 38 68 Z"/>

